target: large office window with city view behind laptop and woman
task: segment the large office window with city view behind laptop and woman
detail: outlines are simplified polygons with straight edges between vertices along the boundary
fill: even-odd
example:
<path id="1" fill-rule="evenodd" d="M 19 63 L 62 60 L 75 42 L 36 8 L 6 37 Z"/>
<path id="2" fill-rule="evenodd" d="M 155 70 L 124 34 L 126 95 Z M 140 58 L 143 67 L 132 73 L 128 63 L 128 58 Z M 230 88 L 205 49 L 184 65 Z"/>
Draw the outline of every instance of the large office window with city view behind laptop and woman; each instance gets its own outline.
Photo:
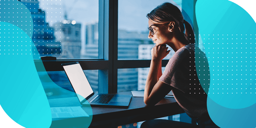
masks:
<path id="1" fill-rule="evenodd" d="M 146 78 L 140 76 L 146 76 L 147 71 L 139 72 L 150 67 L 150 49 L 154 47 L 152 40 L 147 38 L 146 14 L 165 0 L 21 2 L 31 8 L 31 12 L 39 12 L 37 15 L 32 13 L 34 25 L 39 25 L 34 26 L 32 40 L 40 56 L 57 57 L 57 60 L 43 59 L 48 74 L 60 75 L 63 72 L 61 63 L 79 61 L 83 70 L 88 71 L 87 76 L 93 80 L 93 88 L 99 93 L 142 89 L 138 88 L 139 81 Z M 30 4 L 32 2 L 35 4 Z M 193 1 L 174 2 L 180 7 L 195 5 Z M 193 8 L 190 6 L 189 9 Z M 163 67 L 173 54 L 171 52 L 163 60 Z M 39 62 L 35 60 L 35 64 Z M 127 75 L 131 77 L 125 77 Z M 135 84 L 124 87 L 122 81 L 131 80 Z"/>

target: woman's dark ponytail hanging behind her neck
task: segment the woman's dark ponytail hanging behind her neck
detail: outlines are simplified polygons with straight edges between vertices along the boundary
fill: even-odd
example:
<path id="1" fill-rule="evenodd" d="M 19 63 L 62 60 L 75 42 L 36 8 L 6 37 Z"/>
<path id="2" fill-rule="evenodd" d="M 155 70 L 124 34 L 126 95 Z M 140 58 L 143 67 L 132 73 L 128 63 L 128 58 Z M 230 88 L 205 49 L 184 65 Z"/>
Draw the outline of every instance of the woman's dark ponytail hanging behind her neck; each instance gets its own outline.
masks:
<path id="1" fill-rule="evenodd" d="M 190 44 L 195 43 L 195 34 L 194 34 L 194 30 L 193 30 L 192 26 L 186 20 L 184 20 L 183 23 L 185 25 L 185 37 L 186 37 L 186 39 L 188 40 L 188 42 Z"/>

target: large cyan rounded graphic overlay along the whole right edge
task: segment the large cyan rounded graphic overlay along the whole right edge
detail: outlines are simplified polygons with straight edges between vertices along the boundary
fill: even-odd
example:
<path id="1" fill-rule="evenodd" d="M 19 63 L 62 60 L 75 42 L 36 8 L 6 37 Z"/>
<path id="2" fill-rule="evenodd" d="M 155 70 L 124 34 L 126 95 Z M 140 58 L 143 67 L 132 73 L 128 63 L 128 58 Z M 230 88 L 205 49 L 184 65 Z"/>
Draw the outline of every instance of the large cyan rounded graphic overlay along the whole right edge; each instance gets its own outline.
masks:
<path id="1" fill-rule="evenodd" d="M 255 21 L 228 0 L 198 0 L 196 18 L 211 76 L 211 119 L 221 128 L 255 128 Z"/>

